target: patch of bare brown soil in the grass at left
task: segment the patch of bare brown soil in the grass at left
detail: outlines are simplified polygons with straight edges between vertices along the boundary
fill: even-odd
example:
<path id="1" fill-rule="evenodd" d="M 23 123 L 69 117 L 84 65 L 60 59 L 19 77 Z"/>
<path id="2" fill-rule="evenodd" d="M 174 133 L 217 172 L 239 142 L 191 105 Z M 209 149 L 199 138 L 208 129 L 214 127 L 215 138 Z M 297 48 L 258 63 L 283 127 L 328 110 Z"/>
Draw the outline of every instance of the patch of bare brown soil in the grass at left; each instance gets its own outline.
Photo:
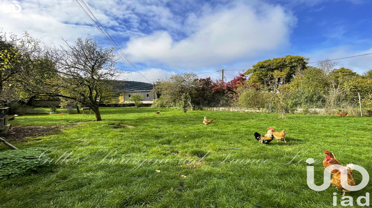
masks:
<path id="1" fill-rule="evenodd" d="M 62 129 L 70 126 L 56 125 L 56 126 L 14 126 L 11 125 L 8 134 L 5 136 L 6 141 L 29 142 L 26 137 L 40 137 L 50 134 L 61 133 Z"/>

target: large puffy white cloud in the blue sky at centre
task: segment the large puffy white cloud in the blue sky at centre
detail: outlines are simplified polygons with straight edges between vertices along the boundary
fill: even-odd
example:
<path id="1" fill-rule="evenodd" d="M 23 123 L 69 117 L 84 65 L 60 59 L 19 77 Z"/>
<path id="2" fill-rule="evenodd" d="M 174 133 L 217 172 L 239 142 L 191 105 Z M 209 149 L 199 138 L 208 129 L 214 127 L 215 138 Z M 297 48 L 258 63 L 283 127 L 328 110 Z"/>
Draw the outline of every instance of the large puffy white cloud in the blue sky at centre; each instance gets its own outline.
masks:
<path id="1" fill-rule="evenodd" d="M 197 30 L 182 41 L 157 31 L 132 38 L 124 52 L 136 62 L 212 67 L 286 46 L 295 23 L 296 18 L 280 6 L 238 4 L 198 19 Z"/>

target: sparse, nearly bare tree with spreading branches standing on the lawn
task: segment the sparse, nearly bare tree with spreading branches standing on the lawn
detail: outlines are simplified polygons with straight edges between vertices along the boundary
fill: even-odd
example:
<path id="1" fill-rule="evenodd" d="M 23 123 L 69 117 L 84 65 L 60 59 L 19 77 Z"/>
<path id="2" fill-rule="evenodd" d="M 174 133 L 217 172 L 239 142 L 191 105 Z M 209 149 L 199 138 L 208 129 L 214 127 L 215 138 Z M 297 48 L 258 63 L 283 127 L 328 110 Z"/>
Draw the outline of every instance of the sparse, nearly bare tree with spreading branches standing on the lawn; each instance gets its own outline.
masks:
<path id="1" fill-rule="evenodd" d="M 46 50 L 45 58 L 37 62 L 46 74 L 39 70 L 32 76 L 29 71 L 25 75 L 33 79 L 23 82 L 38 96 L 58 96 L 90 107 L 100 121 L 100 102 L 114 96 L 113 79 L 119 73 L 115 61 L 113 49 L 102 49 L 89 37 L 79 38 L 74 46 L 65 42 L 61 49 Z"/>

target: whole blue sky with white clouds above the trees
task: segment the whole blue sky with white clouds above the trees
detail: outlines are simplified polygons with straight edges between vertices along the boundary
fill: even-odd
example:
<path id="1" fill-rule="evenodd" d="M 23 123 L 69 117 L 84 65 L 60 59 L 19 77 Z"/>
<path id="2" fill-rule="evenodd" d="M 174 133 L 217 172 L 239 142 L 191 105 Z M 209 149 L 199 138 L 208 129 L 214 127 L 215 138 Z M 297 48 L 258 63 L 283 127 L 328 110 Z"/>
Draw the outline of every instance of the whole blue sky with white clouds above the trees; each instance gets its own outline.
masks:
<path id="1" fill-rule="evenodd" d="M 121 79 L 174 73 L 226 81 L 255 63 L 301 55 L 309 62 L 372 53 L 371 0 L 85 0 L 143 76 L 123 59 Z M 93 38 L 112 48 L 76 0 L 0 0 L 0 30 L 47 45 Z M 118 55 L 118 58 L 120 56 Z M 335 60 L 363 74 L 372 54 Z M 316 66 L 316 63 L 310 65 Z M 214 73 L 213 73 L 214 72 Z"/>

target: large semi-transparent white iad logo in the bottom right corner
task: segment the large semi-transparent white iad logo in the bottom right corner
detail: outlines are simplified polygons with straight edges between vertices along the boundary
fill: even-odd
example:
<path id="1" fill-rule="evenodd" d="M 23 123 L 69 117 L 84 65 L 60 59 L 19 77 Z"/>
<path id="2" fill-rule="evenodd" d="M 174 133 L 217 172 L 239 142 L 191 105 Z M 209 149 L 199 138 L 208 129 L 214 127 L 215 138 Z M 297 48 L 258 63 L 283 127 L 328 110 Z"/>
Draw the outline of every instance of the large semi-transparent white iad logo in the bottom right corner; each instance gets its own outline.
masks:
<path id="1" fill-rule="evenodd" d="M 314 163 L 314 159 L 309 158 L 307 160 L 307 162 L 309 164 L 312 164 L 312 163 Z M 341 167 L 343 167 L 343 166 L 339 165 L 339 164 L 332 164 L 332 165 L 329 165 L 327 168 L 325 168 L 324 172 L 323 172 L 323 184 L 320 185 L 320 186 L 317 186 L 317 185 L 314 184 L 314 166 L 312 166 L 312 165 L 308 166 L 307 167 L 307 175 L 308 175 L 307 182 L 308 182 L 309 188 L 314 190 L 314 191 L 324 191 L 324 190 L 326 190 L 331 185 L 331 173 L 330 172 L 332 170 L 340 170 Z M 357 170 L 362 174 L 362 182 L 358 185 L 351 186 L 351 185 L 348 184 L 348 173 L 347 173 L 347 171 L 340 171 L 341 186 L 345 190 L 348 190 L 348 191 L 359 191 L 359 190 L 363 189 L 364 187 L 366 187 L 368 185 L 368 182 L 370 180 L 370 175 L 368 174 L 367 170 L 364 169 L 362 166 L 354 165 L 352 169 Z M 333 194 L 336 195 L 336 193 L 333 193 Z M 347 199 L 347 200 L 344 200 L 344 201 L 341 202 L 341 206 L 353 206 L 353 198 L 352 197 L 344 196 L 341 199 L 342 200 Z M 366 200 L 365 204 L 361 203 L 362 199 Z M 366 193 L 365 197 L 364 196 L 358 197 L 357 204 L 359 206 L 369 206 L 370 205 L 370 193 Z M 336 205 L 337 205 L 337 198 L 336 198 L 336 196 L 334 196 L 333 197 L 333 206 L 336 206 Z"/>

